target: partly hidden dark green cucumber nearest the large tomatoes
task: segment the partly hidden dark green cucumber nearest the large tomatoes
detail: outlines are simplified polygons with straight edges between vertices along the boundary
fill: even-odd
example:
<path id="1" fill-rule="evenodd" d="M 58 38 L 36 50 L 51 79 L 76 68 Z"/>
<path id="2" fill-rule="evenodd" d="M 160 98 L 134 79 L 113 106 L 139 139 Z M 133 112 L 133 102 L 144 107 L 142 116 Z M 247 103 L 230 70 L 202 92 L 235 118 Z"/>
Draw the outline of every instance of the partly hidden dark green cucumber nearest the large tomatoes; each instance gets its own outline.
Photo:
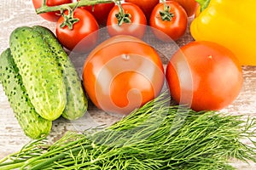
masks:
<path id="1" fill-rule="evenodd" d="M 48 28 L 44 26 L 32 26 L 32 28 L 38 31 L 44 37 L 44 40 L 49 43 L 49 47 L 60 65 L 67 91 L 67 105 L 62 116 L 68 120 L 75 120 L 84 116 L 84 113 L 87 111 L 88 101 L 85 97 L 79 75 L 66 51 Z"/>

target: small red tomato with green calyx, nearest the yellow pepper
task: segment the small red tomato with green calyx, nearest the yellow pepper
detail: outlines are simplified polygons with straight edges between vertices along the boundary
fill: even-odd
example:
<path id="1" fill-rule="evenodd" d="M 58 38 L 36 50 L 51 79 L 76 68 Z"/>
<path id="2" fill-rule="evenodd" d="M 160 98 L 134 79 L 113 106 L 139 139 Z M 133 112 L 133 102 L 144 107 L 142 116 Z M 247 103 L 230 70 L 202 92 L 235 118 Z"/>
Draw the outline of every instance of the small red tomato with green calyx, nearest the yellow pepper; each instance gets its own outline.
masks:
<path id="1" fill-rule="evenodd" d="M 166 8 L 169 7 L 169 8 Z M 176 41 L 178 38 L 182 37 L 187 29 L 188 16 L 183 7 L 175 2 L 168 1 L 164 3 L 158 3 L 150 16 L 149 26 L 152 29 L 155 37 L 158 37 L 163 42 L 170 42 L 172 40 Z M 167 17 L 166 20 L 160 16 L 160 12 L 164 12 Z"/>

